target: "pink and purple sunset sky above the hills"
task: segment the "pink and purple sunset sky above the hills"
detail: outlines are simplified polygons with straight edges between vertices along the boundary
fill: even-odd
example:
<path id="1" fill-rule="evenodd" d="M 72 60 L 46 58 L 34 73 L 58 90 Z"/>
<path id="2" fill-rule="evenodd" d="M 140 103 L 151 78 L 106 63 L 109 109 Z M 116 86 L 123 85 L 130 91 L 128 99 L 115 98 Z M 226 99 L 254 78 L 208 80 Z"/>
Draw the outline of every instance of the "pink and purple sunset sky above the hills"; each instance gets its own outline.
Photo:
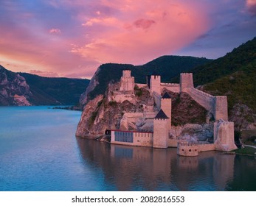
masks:
<path id="1" fill-rule="evenodd" d="M 90 79 L 103 63 L 216 59 L 256 36 L 256 0 L 0 0 L 0 65 Z"/>

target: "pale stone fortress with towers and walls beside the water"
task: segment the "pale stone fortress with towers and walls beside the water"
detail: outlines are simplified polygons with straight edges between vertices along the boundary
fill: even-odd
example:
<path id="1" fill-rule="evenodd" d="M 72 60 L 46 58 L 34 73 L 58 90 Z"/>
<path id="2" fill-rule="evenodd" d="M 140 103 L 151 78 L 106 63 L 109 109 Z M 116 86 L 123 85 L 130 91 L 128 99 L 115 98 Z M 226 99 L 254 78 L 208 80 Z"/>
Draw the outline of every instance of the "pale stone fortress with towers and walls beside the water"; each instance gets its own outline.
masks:
<path id="1" fill-rule="evenodd" d="M 234 123 L 228 121 L 226 96 L 212 96 L 194 88 L 193 74 L 180 74 L 180 83 L 163 83 L 158 75 L 147 77 L 146 84 L 136 84 L 131 71 L 122 72 L 120 90 L 114 91 L 115 102 L 132 101 L 134 99 L 134 87 L 147 88 L 153 96 L 155 105 L 144 105 L 142 113 L 124 113 L 120 130 L 111 130 L 111 143 L 130 146 L 151 146 L 153 148 L 166 149 L 177 147 L 177 153 L 183 156 L 196 156 L 198 152 L 218 150 L 231 151 L 237 149 L 234 142 Z M 198 104 L 204 107 L 214 119 L 213 143 L 198 143 L 193 140 L 184 141 L 173 138 L 172 125 L 172 99 L 168 93 L 161 96 L 163 89 L 174 93 L 187 93 Z M 130 121 L 139 121 L 144 118 L 147 124 L 153 124 L 153 132 L 129 131 Z"/>

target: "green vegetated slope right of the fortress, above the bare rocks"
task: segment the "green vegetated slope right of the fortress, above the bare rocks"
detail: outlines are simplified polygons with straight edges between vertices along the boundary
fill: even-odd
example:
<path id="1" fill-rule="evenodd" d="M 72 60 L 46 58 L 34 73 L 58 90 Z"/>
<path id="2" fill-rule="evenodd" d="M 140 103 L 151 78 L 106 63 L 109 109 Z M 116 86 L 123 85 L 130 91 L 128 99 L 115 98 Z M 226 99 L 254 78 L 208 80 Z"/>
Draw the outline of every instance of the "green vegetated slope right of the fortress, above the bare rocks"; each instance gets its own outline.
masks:
<path id="1" fill-rule="evenodd" d="M 241 103 L 256 112 L 256 38 L 193 72 L 195 85 L 206 84 L 213 95 L 227 96 L 229 109 Z"/>

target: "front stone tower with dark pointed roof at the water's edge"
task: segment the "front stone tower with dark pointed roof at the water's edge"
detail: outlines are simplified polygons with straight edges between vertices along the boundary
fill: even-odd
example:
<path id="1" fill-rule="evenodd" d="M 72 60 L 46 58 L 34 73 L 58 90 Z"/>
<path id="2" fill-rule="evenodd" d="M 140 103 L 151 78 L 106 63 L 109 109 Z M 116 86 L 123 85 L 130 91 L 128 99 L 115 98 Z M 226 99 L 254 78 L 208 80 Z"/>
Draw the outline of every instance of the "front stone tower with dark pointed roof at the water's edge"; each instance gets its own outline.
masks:
<path id="1" fill-rule="evenodd" d="M 153 147 L 165 149 L 168 147 L 167 140 L 169 135 L 168 117 L 160 110 L 153 119 Z"/>

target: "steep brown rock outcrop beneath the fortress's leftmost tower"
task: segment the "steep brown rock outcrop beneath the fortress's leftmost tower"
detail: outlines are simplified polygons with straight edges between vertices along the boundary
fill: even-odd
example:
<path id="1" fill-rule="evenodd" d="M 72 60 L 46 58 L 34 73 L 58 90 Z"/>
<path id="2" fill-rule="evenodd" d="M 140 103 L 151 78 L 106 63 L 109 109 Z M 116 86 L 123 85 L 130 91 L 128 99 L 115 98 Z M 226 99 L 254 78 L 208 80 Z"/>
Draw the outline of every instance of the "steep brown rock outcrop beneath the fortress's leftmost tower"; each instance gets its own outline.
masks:
<path id="1" fill-rule="evenodd" d="M 118 88 L 120 83 L 109 85 L 105 96 L 99 95 L 86 104 L 77 126 L 76 136 L 97 138 L 105 133 L 105 129 L 120 129 L 121 119 L 125 113 L 143 113 L 143 105 L 154 104 L 149 91 L 143 88 L 142 93 L 139 96 L 135 95 L 131 102 L 115 102 L 113 91 Z M 128 129 L 134 130 L 135 127 L 134 125 Z"/>

